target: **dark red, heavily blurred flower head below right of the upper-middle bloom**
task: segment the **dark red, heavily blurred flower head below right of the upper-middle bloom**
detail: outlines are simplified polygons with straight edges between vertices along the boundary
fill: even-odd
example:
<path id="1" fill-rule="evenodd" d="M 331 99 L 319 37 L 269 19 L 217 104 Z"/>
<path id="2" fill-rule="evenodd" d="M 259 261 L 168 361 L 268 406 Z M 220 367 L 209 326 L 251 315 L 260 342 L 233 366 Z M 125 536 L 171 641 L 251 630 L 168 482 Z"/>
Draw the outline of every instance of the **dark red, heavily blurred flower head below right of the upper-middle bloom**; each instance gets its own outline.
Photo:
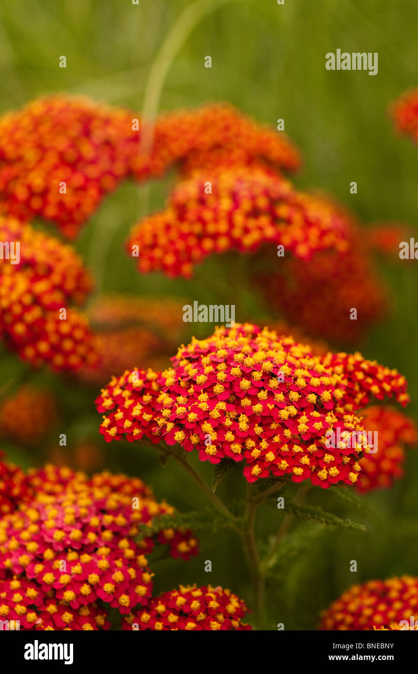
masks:
<path id="1" fill-rule="evenodd" d="M 268 277 L 260 274 L 258 285 L 269 306 L 285 319 L 330 342 L 357 342 L 386 317 L 390 304 L 386 282 L 372 259 L 355 247 L 340 254 L 318 253 L 303 264 L 288 259 Z"/>

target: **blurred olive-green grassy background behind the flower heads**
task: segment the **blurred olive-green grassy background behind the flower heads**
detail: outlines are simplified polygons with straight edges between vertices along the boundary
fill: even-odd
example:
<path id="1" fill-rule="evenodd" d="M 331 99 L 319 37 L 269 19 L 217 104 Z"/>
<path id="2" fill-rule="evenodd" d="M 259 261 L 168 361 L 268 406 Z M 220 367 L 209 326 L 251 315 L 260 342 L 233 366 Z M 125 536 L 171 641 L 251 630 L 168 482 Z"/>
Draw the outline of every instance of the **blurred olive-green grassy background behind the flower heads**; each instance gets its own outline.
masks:
<path id="1" fill-rule="evenodd" d="M 50 92 L 87 94 L 141 111 L 149 70 L 164 38 L 182 11 L 184 0 L 48 0 L 0 5 L 0 106 L 15 109 Z M 299 187 L 330 191 L 353 208 L 365 223 L 400 221 L 415 226 L 418 212 L 417 148 L 396 137 L 387 115 L 388 104 L 418 84 L 418 5 L 413 0 L 254 0 L 213 2 L 209 13 L 191 32 L 170 67 L 160 111 L 228 100 L 258 121 L 285 131 L 305 159 Z M 327 71 L 328 51 L 378 52 L 378 75 L 366 71 Z M 59 57 L 67 68 L 59 68 Z M 204 67 L 205 56 L 212 67 Z M 218 256 L 209 259 L 193 282 L 161 275 L 139 276 L 128 261 L 123 241 L 133 222 L 161 208 L 172 177 L 138 188 L 125 183 L 104 200 L 75 243 L 96 278 L 96 295 L 108 290 L 138 295 L 178 295 L 193 302 L 234 303 L 228 266 Z M 357 194 L 349 183 L 357 182 Z M 49 228 L 57 235 L 55 228 Z M 250 268 L 250 258 L 244 259 Z M 410 382 L 409 414 L 417 417 L 418 364 L 417 264 L 382 266 L 394 293 L 394 313 L 361 347 L 367 357 L 397 367 Z M 216 289 L 212 278 L 217 279 Z M 264 315 L 249 284 L 242 287 L 242 314 Z M 245 320 L 246 315 L 237 315 Z M 179 317 L 181 320 L 181 317 Z M 209 332 L 211 326 L 200 329 Z M 1 354 L 0 385 L 24 375 L 26 366 L 9 353 Z M 153 450 L 129 443 L 106 446 L 98 435 L 100 417 L 95 390 L 82 390 L 70 380 L 45 372 L 31 381 L 52 386 L 63 421 L 59 433 L 67 442 L 94 437 L 112 470 L 137 474 L 182 511 L 204 505 L 203 497 L 181 468 L 159 466 Z M 105 384 L 106 382 L 104 382 Z M 28 452 L 3 442 L 3 448 L 24 466 L 44 460 L 42 448 Z M 196 462 L 195 462 L 196 464 Z M 199 470 L 210 479 L 211 469 Z M 361 506 L 345 505 L 331 493 L 314 489 L 310 502 L 365 523 L 367 532 L 320 530 L 304 550 L 283 561 L 269 587 L 271 629 L 315 629 L 318 613 L 354 582 L 391 574 L 418 574 L 417 546 L 418 454 L 411 452 L 405 478 L 391 491 L 373 493 Z M 320 491 L 320 493 L 317 493 Z M 219 487 L 228 499 L 244 495 L 240 469 Z M 275 508 L 260 512 L 259 529 L 273 534 L 281 521 Z M 246 559 L 234 534 L 199 534 L 201 553 L 188 561 L 156 562 L 155 586 L 168 590 L 179 582 L 212 582 L 228 586 L 250 603 Z M 213 572 L 204 572 L 211 559 Z M 357 573 L 349 571 L 357 560 Z M 210 575 L 210 578 L 209 578 Z"/>

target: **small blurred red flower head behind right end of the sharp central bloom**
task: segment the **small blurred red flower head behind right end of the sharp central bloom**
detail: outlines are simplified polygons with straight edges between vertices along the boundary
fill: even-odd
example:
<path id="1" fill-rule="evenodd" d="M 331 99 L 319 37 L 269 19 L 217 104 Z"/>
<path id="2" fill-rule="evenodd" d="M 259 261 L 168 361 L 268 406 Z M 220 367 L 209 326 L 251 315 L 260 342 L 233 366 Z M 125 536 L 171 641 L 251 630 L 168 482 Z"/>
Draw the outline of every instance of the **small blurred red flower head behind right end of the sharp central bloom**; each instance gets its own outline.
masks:
<path id="1" fill-rule="evenodd" d="M 415 422 L 394 408 L 378 405 L 365 408 L 361 421 L 366 431 L 377 433 L 378 451 L 361 459 L 356 487 L 361 492 L 392 487 L 394 479 L 403 475 L 405 446 L 417 443 Z"/>

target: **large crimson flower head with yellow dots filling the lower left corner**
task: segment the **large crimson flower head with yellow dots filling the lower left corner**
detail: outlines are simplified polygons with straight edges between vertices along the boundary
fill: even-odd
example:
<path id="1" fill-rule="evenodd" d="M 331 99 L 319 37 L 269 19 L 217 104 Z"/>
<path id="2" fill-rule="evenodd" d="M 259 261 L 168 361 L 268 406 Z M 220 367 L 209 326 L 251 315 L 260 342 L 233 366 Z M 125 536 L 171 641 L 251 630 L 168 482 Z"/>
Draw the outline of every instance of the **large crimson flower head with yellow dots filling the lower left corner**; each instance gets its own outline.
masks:
<path id="1" fill-rule="evenodd" d="M 145 555 L 151 536 L 139 526 L 174 508 L 155 501 L 139 479 L 47 466 L 26 480 L 34 495 L 0 519 L 0 615 L 24 629 L 108 629 L 104 603 L 128 615 L 151 596 Z M 163 530 L 172 556 L 188 559 L 197 541 L 188 530 Z M 22 594 L 10 594 L 15 588 Z M 16 615 L 17 614 L 17 615 Z M 17 618 L 18 616 L 18 618 Z"/>

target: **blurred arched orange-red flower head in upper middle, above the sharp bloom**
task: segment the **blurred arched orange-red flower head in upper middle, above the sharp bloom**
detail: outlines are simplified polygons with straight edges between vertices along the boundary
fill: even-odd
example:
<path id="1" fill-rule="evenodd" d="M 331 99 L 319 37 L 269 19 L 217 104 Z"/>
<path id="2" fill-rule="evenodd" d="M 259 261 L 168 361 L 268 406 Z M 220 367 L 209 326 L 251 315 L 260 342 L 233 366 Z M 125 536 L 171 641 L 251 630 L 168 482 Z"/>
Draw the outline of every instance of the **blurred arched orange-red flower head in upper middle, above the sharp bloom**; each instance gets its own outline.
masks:
<path id="1" fill-rule="evenodd" d="M 241 166 L 179 183 L 166 210 L 134 226 L 127 251 L 141 272 L 190 277 L 211 253 L 254 253 L 270 244 L 306 260 L 324 249 L 344 250 L 347 235 L 347 221 L 329 204 L 295 191 L 271 170 Z"/>

